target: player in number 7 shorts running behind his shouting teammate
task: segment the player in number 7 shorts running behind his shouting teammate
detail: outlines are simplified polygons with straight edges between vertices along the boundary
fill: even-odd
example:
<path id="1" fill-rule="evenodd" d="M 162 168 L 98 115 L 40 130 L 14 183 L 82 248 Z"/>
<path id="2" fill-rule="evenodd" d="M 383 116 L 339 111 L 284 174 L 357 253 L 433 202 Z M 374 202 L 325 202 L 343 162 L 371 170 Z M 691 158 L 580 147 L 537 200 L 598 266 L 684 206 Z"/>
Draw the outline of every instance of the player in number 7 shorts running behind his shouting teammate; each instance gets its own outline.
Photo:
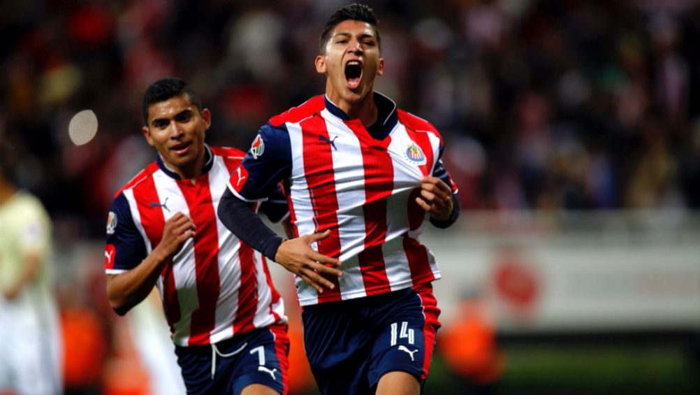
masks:
<path id="1" fill-rule="evenodd" d="M 244 153 L 204 143 L 211 113 L 179 78 L 155 81 L 142 111 L 144 137 L 159 155 L 111 205 L 111 307 L 123 315 L 158 286 L 188 394 L 286 394 L 282 300 L 265 258 L 216 218 Z M 272 221 L 288 211 L 279 193 L 260 208 Z"/>

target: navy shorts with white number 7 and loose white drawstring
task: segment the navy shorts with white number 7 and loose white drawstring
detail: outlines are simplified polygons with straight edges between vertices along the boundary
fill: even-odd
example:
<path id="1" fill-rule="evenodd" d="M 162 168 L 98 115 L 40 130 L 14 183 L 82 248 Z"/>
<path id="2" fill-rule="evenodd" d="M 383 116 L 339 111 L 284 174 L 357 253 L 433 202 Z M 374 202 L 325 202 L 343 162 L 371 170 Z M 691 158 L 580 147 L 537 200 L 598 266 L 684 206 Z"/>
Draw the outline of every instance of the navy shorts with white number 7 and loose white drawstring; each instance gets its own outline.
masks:
<path id="1" fill-rule="evenodd" d="M 175 347 L 188 394 L 238 395 L 250 384 L 287 394 L 286 324 L 258 328 L 214 345 Z"/>

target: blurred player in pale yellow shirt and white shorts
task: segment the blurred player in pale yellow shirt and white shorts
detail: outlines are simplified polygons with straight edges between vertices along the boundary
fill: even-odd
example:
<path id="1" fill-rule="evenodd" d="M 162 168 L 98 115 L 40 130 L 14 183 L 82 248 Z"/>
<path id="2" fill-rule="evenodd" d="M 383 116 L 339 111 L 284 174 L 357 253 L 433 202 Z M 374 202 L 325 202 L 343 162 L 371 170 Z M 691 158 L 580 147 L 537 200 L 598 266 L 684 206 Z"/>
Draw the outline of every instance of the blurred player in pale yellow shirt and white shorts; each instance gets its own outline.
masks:
<path id="1" fill-rule="evenodd" d="M 51 222 L 15 183 L 0 143 L 0 394 L 62 394 L 62 347 L 52 282 Z"/>

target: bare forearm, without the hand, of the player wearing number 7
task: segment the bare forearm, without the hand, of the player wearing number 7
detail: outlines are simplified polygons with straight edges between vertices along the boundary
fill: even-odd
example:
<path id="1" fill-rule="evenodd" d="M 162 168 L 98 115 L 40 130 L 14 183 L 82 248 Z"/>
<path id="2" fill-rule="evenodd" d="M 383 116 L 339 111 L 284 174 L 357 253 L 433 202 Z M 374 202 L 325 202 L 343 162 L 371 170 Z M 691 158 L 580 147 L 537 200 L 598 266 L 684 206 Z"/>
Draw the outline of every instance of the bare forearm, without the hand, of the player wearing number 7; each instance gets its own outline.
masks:
<path id="1" fill-rule="evenodd" d="M 124 315 L 141 303 L 151 293 L 168 261 L 169 258 L 162 256 L 156 247 L 136 268 L 118 275 L 109 275 L 107 298 L 112 309 L 117 314 Z"/>

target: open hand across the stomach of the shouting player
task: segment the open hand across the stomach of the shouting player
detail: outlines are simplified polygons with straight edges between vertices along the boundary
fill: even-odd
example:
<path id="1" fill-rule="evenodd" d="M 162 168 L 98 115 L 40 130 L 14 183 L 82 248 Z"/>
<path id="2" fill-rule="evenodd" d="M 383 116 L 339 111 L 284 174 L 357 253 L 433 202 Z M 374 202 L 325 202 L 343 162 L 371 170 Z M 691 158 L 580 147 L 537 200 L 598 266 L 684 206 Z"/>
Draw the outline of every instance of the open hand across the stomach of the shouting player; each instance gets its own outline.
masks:
<path id="1" fill-rule="evenodd" d="M 282 265 L 286 270 L 301 277 L 304 282 L 313 286 L 318 293 L 323 293 L 324 286 L 328 289 L 334 289 L 335 285 L 321 274 L 342 276 L 343 273 L 335 269 L 342 263 L 330 256 L 319 254 L 311 248 L 311 243 L 323 240 L 328 235 L 330 235 L 330 230 L 286 240 L 279 244 L 274 261 Z"/>

